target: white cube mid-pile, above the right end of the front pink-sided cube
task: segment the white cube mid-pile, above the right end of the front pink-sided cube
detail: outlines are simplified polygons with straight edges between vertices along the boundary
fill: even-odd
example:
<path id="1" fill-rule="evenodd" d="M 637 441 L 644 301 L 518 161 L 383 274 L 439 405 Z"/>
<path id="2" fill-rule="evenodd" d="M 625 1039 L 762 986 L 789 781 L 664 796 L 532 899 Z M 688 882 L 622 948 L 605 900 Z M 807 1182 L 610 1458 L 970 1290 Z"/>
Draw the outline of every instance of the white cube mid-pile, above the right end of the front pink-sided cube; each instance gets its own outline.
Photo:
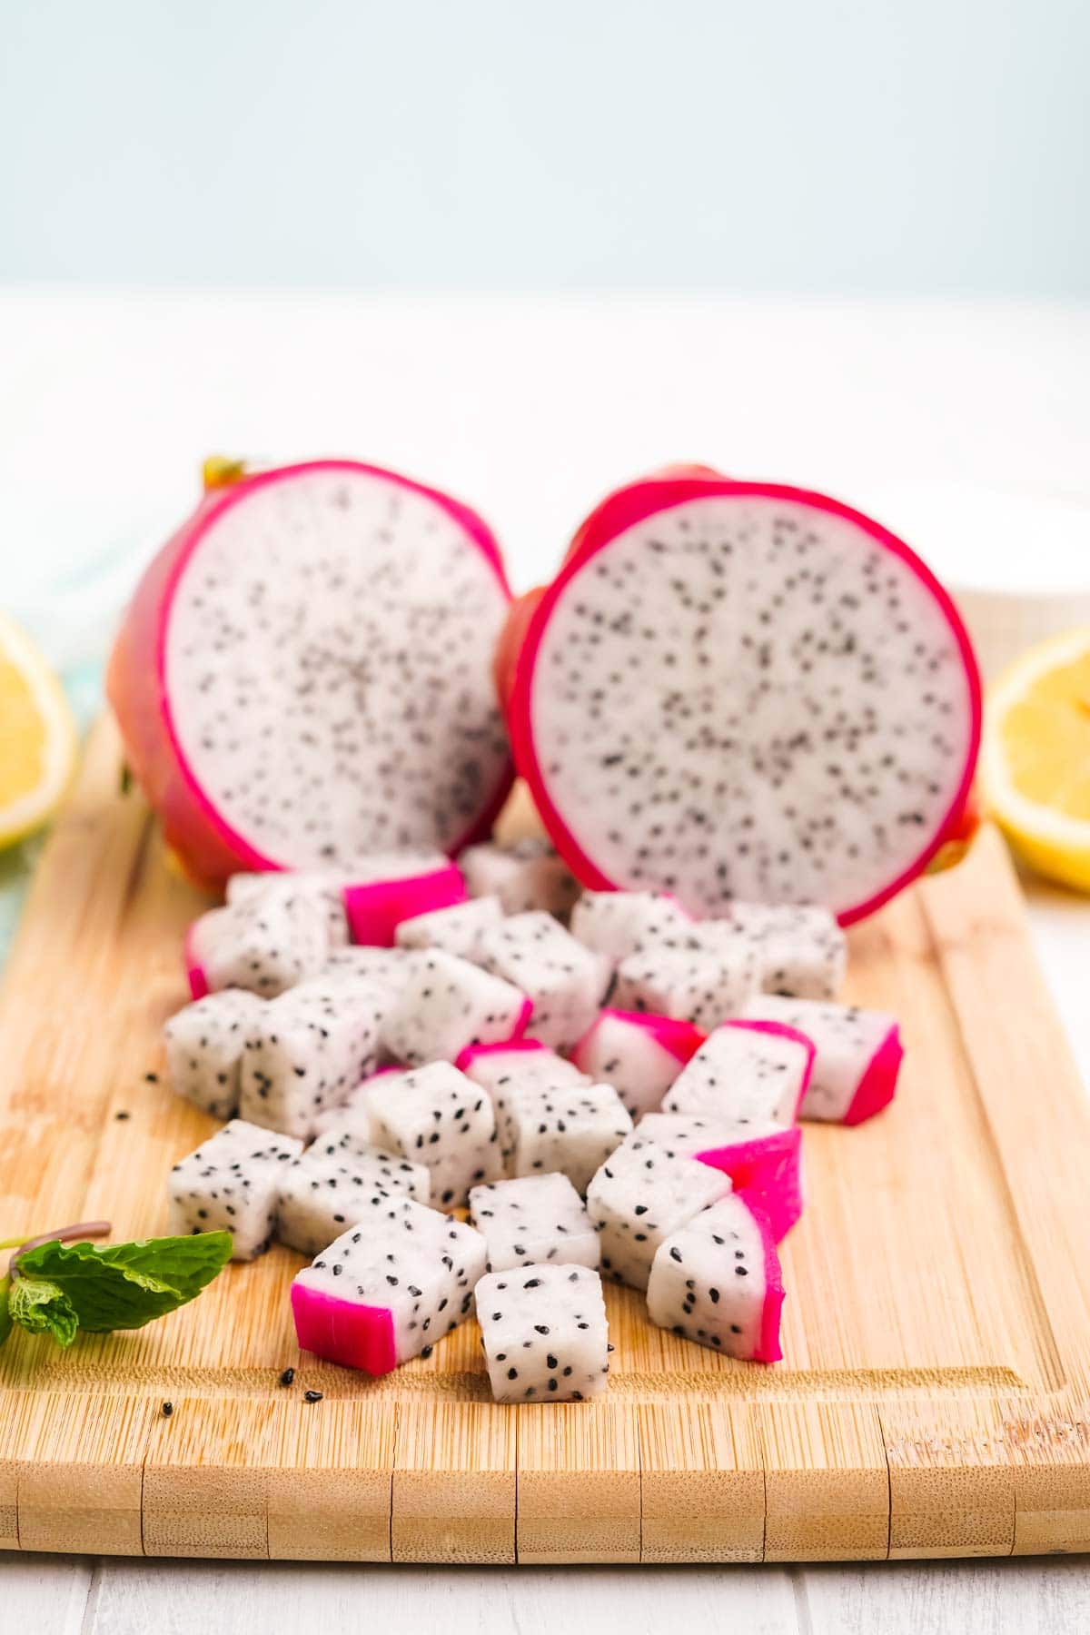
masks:
<path id="1" fill-rule="evenodd" d="M 377 1077 L 366 1102 L 371 1140 L 427 1166 L 436 1208 L 461 1208 L 471 1187 L 503 1174 L 492 1102 L 449 1061 Z"/>

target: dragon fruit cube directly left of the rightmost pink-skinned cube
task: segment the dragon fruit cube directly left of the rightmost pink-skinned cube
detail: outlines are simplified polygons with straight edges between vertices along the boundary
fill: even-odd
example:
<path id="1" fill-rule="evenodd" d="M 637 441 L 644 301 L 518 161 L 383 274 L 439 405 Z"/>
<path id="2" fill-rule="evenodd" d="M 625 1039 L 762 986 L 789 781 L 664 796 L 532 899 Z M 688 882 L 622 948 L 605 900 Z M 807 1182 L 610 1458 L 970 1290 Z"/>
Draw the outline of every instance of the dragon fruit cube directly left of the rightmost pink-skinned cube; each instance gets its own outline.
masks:
<path id="1" fill-rule="evenodd" d="M 713 1028 L 662 1104 L 667 1113 L 711 1118 L 744 1138 L 799 1115 L 814 1045 L 781 1022 L 724 1022 Z"/>

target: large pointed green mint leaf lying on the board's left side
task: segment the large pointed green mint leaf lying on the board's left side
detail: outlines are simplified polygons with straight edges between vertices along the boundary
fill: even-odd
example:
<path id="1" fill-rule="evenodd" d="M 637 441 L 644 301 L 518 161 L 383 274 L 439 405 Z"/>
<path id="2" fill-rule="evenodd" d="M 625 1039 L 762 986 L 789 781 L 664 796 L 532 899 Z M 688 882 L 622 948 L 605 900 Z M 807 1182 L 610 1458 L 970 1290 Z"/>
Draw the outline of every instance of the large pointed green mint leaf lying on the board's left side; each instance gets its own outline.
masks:
<path id="1" fill-rule="evenodd" d="M 11 1319 L 31 1326 L 23 1316 L 31 1306 L 21 1300 L 16 1308 L 15 1295 L 25 1282 L 38 1282 L 54 1290 L 78 1326 L 90 1333 L 144 1328 L 199 1295 L 230 1259 L 230 1251 L 226 1231 L 147 1238 L 105 1249 L 92 1243 L 42 1243 L 20 1256 Z"/>

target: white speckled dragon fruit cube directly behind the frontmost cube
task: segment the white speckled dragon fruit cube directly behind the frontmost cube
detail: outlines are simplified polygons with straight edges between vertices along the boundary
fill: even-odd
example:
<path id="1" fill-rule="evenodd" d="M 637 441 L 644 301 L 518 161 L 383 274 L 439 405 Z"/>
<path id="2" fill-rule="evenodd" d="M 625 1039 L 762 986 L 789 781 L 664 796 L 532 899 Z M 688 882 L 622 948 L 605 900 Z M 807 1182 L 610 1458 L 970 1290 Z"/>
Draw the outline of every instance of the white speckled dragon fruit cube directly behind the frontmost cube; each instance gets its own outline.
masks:
<path id="1" fill-rule="evenodd" d="M 489 1246 L 490 1272 L 529 1262 L 598 1265 L 598 1233 L 567 1176 L 471 1187 L 469 1216 Z"/>

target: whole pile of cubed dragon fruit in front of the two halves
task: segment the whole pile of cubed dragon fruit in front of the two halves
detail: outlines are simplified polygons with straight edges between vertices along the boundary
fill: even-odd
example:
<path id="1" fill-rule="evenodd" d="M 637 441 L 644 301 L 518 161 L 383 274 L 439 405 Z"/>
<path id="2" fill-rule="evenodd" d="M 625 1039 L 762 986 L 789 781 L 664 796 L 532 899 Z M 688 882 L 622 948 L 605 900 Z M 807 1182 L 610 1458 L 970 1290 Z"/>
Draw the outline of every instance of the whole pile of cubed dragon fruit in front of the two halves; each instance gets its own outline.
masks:
<path id="1" fill-rule="evenodd" d="M 873 1117 L 900 1066 L 845 961 L 824 909 L 580 893 L 543 844 L 237 875 L 165 1028 L 173 1089 L 224 1120 L 170 1174 L 170 1230 L 307 1256 L 299 1344 L 346 1367 L 476 1313 L 503 1403 L 606 1390 L 603 1282 L 775 1362 L 799 1122 Z"/>

